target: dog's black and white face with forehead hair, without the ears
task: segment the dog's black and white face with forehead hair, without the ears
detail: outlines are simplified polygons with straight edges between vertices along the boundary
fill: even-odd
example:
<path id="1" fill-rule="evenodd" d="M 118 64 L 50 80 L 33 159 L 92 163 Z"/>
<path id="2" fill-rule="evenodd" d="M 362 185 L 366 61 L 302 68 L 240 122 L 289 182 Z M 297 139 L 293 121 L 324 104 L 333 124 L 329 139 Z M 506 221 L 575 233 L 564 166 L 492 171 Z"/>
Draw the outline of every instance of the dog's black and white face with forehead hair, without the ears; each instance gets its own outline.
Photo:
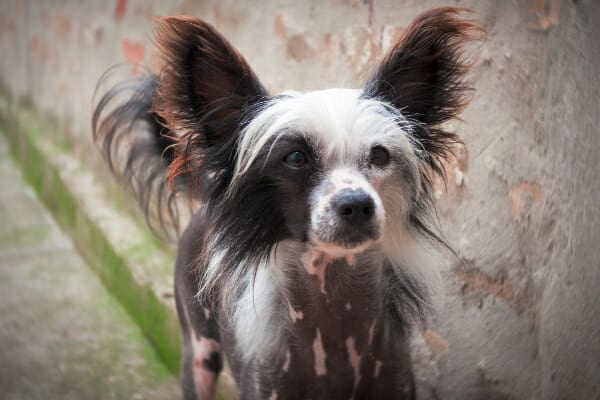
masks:
<path id="1" fill-rule="evenodd" d="M 269 100 L 241 132 L 229 188 L 270 182 L 293 239 L 334 256 L 361 252 L 406 220 L 419 191 L 410 124 L 360 90 L 289 93 Z M 257 200 L 264 201 L 262 197 Z M 397 228 L 397 227 L 396 227 Z"/>

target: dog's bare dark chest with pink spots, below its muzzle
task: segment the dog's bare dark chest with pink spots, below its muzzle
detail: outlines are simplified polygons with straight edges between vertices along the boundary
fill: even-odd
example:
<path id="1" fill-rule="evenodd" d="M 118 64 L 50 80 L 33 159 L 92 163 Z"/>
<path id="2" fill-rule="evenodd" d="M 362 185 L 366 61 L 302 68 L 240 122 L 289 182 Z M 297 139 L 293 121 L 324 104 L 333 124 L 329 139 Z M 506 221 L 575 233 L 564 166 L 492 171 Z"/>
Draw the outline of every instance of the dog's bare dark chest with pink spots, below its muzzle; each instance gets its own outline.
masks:
<path id="1" fill-rule="evenodd" d="M 385 321 L 378 269 L 360 258 L 305 255 L 288 276 L 285 345 L 261 377 L 271 399 L 371 398 L 395 390 L 404 338 Z M 400 382 L 404 384 L 403 382 Z M 267 398 L 269 398 L 267 396 Z"/>

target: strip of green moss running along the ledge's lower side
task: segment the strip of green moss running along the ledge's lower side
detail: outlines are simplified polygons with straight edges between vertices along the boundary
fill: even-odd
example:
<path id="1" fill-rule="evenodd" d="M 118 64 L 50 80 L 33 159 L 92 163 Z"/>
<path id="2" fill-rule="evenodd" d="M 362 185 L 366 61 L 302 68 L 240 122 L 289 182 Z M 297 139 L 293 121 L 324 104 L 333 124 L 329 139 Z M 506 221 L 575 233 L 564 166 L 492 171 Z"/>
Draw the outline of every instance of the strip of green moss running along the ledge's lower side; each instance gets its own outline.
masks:
<path id="1" fill-rule="evenodd" d="M 151 287 L 135 282 L 126 260 L 116 252 L 101 229 L 80 209 L 62 181 L 59 171 L 46 161 L 36 145 L 36 138 L 45 125 L 31 112 L 23 112 L 15 116 L 11 124 L 4 126 L 8 128 L 6 133 L 13 154 L 39 198 L 55 215 L 63 229 L 71 234 L 87 262 L 140 326 L 169 371 L 178 372 L 180 343 L 175 313 L 157 298 Z M 155 246 L 153 239 L 149 238 L 133 248 L 131 255 L 134 259 L 143 259 L 144 254 L 151 254 Z"/>

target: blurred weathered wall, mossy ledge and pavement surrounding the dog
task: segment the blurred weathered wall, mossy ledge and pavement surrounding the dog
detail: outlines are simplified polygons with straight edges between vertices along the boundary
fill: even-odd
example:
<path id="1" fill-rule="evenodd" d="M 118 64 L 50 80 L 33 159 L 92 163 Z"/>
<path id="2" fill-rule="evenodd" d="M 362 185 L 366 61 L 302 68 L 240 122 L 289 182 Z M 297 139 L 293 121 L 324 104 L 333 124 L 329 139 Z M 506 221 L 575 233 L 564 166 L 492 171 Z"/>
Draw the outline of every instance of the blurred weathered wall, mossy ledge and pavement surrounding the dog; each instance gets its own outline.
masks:
<path id="1" fill-rule="evenodd" d="M 0 0 L 0 397 L 178 395 L 173 251 L 90 128 L 104 71 L 160 69 L 157 16 L 213 23 L 278 93 L 359 87 L 441 5 L 474 9 L 487 36 L 469 52 L 476 89 L 452 123 L 464 146 L 437 193 L 466 266 L 440 266 L 439 311 L 414 338 L 418 397 L 600 398 L 593 0 Z"/>

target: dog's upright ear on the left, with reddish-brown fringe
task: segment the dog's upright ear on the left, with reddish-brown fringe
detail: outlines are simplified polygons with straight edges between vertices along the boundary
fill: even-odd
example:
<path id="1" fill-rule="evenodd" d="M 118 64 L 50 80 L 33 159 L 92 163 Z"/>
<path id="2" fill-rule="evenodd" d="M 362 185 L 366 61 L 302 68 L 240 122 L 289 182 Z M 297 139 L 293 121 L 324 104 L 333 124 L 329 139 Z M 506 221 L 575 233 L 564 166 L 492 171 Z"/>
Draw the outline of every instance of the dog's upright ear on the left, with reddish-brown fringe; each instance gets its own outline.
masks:
<path id="1" fill-rule="evenodd" d="M 175 141 L 169 179 L 223 172 L 233 165 L 245 111 L 266 90 L 239 52 L 197 18 L 161 18 L 155 42 L 165 65 L 153 111 Z"/>

